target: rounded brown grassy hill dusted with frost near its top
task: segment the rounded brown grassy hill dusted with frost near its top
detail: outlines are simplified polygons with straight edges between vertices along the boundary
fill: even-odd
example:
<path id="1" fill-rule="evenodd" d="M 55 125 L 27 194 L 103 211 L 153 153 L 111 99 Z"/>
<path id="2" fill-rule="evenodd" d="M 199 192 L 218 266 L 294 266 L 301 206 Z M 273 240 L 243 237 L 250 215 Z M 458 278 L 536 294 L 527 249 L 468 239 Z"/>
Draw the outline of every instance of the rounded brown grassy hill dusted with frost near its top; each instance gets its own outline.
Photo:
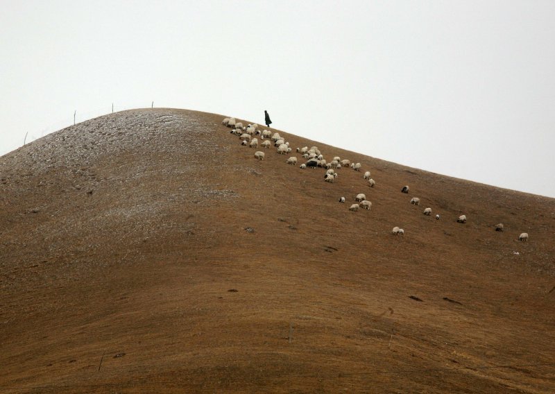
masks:
<path id="1" fill-rule="evenodd" d="M 554 199 L 279 130 L 361 162 L 327 183 L 222 119 L 118 112 L 0 157 L 0 391 L 554 391 Z"/>

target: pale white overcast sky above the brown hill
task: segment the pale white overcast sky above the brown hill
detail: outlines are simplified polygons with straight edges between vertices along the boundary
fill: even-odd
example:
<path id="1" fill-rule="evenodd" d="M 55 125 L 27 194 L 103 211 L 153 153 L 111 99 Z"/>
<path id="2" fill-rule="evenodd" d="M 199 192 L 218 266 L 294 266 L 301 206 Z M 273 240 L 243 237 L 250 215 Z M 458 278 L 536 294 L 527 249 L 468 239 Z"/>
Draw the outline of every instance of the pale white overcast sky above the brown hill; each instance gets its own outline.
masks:
<path id="1" fill-rule="evenodd" d="M 0 155 L 154 101 L 555 197 L 555 1 L 0 6 Z"/>

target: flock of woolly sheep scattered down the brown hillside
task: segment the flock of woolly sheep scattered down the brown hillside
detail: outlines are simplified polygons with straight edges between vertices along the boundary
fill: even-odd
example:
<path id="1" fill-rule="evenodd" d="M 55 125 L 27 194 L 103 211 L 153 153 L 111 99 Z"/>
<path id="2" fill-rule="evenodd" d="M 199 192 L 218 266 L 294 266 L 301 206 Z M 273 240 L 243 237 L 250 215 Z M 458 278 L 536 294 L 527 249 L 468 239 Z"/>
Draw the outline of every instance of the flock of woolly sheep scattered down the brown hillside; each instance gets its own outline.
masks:
<path id="1" fill-rule="evenodd" d="M 272 133 L 270 130 L 259 130 L 257 124 L 249 124 L 247 126 L 243 126 L 243 123 L 237 122 L 234 118 L 225 118 L 221 122 L 223 125 L 228 126 L 232 130 L 230 131 L 232 134 L 239 136 L 239 140 L 241 141 L 241 145 L 243 146 L 250 146 L 250 148 L 258 148 L 258 138 L 261 140 L 260 146 L 262 148 L 271 148 L 273 145 L 277 148 L 277 151 L 280 155 L 287 155 L 291 153 L 292 148 L 289 147 L 289 142 L 285 142 L 284 137 L 281 137 L 278 132 Z M 301 169 L 306 169 L 307 167 L 316 168 L 321 167 L 325 169 L 324 174 L 324 181 L 325 182 L 334 182 L 334 179 L 337 178 L 338 174 L 336 173 L 337 169 L 341 169 L 342 167 L 350 166 L 355 171 L 361 171 L 361 164 L 360 163 L 351 163 L 350 160 L 343 159 L 341 157 L 336 156 L 333 157 L 333 160 L 327 162 L 321 152 L 318 150 L 317 146 L 312 146 L 308 148 L 304 146 L 303 148 L 296 148 L 296 152 L 300 153 L 302 158 L 306 160 L 305 163 L 300 164 Z M 264 160 L 264 152 L 256 151 L 255 158 L 258 160 Z M 296 165 L 297 164 L 297 157 L 291 156 L 286 160 L 287 164 Z M 369 187 L 375 187 L 376 182 L 372 178 L 370 178 L 370 171 L 366 171 L 364 173 L 363 179 L 368 182 Z M 405 185 L 401 189 L 402 193 L 408 194 L 409 193 L 409 186 Z M 340 203 L 345 203 L 345 197 L 339 198 Z M 366 195 L 361 193 L 357 194 L 355 197 L 355 202 L 349 207 L 350 211 L 357 212 L 359 208 L 370 210 L 372 207 L 372 203 L 366 200 Z M 413 205 L 420 205 L 420 198 L 413 197 L 410 200 L 410 203 Z M 424 209 L 423 214 L 426 216 L 432 215 L 432 208 L 427 207 Z M 440 216 L 436 214 L 436 220 L 440 219 Z M 466 215 L 459 216 L 459 219 L 456 219 L 458 223 L 466 223 Z M 503 231 L 504 226 L 503 223 L 498 223 L 495 226 L 495 231 Z M 403 235 L 404 230 L 395 226 L 392 230 L 392 233 L 395 235 Z M 528 241 L 528 233 L 523 232 L 518 237 L 520 241 Z"/>

